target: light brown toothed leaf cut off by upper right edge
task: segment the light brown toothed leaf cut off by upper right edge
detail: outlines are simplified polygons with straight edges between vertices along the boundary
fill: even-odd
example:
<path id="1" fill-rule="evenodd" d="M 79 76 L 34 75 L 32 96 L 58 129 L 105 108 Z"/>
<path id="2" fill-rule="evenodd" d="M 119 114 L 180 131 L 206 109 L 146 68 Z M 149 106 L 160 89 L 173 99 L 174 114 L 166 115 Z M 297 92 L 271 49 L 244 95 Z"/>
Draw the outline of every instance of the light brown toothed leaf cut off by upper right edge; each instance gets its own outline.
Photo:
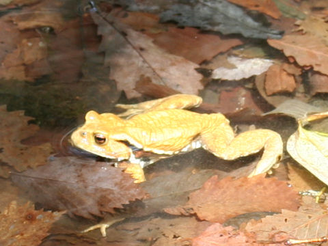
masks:
<path id="1" fill-rule="evenodd" d="M 314 70 L 328 74 L 328 47 L 320 38 L 290 34 L 280 40 L 268 40 L 276 49 L 283 50 L 284 54 L 294 57 L 301 66 L 312 66 Z"/>

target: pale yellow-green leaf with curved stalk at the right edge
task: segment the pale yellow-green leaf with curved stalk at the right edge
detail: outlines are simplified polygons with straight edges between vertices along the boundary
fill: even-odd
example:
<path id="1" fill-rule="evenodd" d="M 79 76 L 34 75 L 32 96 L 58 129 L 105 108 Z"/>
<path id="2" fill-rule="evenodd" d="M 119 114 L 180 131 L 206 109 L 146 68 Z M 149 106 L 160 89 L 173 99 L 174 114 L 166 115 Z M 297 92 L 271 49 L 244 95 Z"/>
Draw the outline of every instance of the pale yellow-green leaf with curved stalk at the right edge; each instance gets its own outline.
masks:
<path id="1" fill-rule="evenodd" d="M 325 133 L 308 131 L 303 128 L 303 124 L 327 116 L 328 113 L 323 112 L 299 120 L 297 132 L 287 141 L 287 151 L 292 158 L 325 184 L 328 184 L 328 136 Z"/>

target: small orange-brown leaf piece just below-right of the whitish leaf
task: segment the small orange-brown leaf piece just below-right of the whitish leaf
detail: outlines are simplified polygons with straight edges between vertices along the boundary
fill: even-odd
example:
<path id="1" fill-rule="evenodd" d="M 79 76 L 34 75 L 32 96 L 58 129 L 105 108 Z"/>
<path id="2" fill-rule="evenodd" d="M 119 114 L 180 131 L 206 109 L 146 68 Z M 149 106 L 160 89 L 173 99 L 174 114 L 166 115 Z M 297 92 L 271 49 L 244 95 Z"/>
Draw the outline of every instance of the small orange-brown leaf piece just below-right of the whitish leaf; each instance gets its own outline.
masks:
<path id="1" fill-rule="evenodd" d="M 265 90 L 268 96 L 279 92 L 293 92 L 296 88 L 295 79 L 282 66 L 274 64 L 267 70 Z"/>

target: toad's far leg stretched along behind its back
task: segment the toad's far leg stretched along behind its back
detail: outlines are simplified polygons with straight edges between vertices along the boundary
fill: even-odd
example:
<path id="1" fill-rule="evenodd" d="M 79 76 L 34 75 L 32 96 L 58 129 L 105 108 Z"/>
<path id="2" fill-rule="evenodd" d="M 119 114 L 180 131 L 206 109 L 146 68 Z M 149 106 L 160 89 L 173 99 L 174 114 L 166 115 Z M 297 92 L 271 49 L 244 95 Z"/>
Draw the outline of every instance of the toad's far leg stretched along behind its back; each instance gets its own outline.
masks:
<path id="1" fill-rule="evenodd" d="M 130 118 L 133 115 L 146 113 L 154 110 L 165 109 L 190 109 L 192 107 L 198 107 L 202 103 L 200 96 L 188 95 L 188 94 L 176 94 L 167 96 L 165 98 L 159 98 L 156 100 L 148 100 L 146 102 L 140 102 L 134 105 L 118 104 L 115 107 L 121 109 L 127 109 L 124 113 L 118 114 L 120 117 Z"/>

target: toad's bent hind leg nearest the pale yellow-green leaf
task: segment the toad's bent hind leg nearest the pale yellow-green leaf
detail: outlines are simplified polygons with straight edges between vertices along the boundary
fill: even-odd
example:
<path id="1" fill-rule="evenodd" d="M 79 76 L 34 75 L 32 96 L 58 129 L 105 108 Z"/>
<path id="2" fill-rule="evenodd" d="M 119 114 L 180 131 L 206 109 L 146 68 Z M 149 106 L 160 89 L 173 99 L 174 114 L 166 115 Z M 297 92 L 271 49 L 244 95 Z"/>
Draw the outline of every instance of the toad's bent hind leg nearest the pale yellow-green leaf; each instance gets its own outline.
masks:
<path id="1" fill-rule="evenodd" d="M 262 158 L 249 177 L 268 172 L 277 167 L 282 158 L 283 143 L 280 135 L 267 129 L 247 131 L 232 137 L 230 126 L 220 126 L 202 134 L 202 141 L 207 150 L 222 159 L 234 160 L 248 156 L 264 148 Z"/>

